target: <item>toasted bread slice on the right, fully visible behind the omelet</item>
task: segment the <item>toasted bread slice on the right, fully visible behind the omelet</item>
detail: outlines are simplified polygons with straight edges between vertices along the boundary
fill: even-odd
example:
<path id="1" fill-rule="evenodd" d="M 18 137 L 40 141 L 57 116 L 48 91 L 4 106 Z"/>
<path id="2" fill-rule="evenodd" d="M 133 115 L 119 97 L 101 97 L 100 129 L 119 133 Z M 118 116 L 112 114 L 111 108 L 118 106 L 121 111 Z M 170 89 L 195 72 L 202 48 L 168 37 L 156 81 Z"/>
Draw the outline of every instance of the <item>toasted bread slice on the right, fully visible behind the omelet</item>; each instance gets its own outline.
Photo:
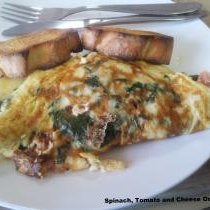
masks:
<path id="1" fill-rule="evenodd" d="M 88 27 L 81 40 L 87 50 L 128 61 L 169 64 L 173 50 L 173 37 L 123 28 Z"/>

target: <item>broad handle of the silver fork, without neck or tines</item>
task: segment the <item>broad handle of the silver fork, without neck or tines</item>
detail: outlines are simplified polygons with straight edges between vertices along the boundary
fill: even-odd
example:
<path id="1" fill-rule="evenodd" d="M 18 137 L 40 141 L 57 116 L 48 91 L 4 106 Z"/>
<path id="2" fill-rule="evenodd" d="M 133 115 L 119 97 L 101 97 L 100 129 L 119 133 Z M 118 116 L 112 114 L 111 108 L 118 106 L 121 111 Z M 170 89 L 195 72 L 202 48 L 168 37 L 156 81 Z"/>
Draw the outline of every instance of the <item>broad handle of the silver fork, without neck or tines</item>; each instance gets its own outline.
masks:
<path id="1" fill-rule="evenodd" d="M 94 8 L 93 8 L 94 9 Z M 138 15 L 179 15 L 193 13 L 201 9 L 197 2 L 174 4 L 134 4 L 134 5 L 100 5 L 96 10 L 133 13 Z"/>

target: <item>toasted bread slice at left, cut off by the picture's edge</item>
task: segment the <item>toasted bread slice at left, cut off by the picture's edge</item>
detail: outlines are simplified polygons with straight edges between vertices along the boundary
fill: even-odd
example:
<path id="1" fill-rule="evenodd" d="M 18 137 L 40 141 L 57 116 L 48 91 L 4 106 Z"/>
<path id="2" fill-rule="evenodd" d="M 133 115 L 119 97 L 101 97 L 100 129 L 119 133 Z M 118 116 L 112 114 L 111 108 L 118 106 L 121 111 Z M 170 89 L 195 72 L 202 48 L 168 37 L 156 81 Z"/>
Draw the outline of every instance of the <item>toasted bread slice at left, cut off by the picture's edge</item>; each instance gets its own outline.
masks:
<path id="1" fill-rule="evenodd" d="M 77 32 L 46 30 L 0 43 L 0 69 L 7 77 L 24 77 L 54 67 L 82 50 Z"/>

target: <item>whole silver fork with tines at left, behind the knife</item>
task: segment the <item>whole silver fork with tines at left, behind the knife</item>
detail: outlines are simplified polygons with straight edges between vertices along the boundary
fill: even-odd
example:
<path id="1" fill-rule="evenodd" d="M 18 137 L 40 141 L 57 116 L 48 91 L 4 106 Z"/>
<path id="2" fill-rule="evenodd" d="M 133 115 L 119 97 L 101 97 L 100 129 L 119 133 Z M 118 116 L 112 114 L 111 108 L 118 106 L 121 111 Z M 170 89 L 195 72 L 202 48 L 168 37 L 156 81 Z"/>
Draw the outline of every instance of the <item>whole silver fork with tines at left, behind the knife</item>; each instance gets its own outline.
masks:
<path id="1" fill-rule="evenodd" d="M 175 4 L 146 4 L 146 5 L 100 5 L 97 7 L 76 7 L 76 8 L 36 8 L 20 4 L 5 2 L 2 6 L 2 18 L 12 22 L 32 23 L 35 21 L 61 20 L 69 15 L 83 11 L 100 10 L 132 13 L 144 16 L 155 15 L 180 15 L 194 13 L 201 9 L 201 4 L 191 3 L 175 3 Z"/>

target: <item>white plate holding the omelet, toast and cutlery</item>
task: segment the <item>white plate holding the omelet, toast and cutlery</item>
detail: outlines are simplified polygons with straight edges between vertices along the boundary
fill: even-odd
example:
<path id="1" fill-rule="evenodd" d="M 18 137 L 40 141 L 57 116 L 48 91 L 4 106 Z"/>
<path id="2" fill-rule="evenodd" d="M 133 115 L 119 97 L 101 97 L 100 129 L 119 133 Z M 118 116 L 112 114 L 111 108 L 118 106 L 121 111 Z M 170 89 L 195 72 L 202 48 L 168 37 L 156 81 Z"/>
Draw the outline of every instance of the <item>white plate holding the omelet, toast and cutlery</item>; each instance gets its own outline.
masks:
<path id="1" fill-rule="evenodd" d="M 17 1 L 13 1 L 17 2 Z M 67 6 L 68 0 L 30 1 L 32 5 Z M 69 6 L 82 1 L 69 2 Z M 135 1 L 129 3 L 167 2 Z M 27 0 L 21 3 L 28 3 Z M 98 1 L 113 3 L 113 0 Z M 127 0 L 114 1 L 127 3 Z M 29 4 L 29 3 L 28 3 Z M 83 4 L 96 4 L 87 1 Z M 1 30 L 12 24 L 1 20 Z M 198 73 L 210 70 L 210 31 L 200 20 L 129 25 L 175 38 L 171 68 Z M 1 37 L 3 39 L 3 37 Z M 105 198 L 146 198 L 163 192 L 197 170 L 210 156 L 210 130 L 158 142 L 116 149 L 108 156 L 125 160 L 129 167 L 113 173 L 81 171 L 53 175 L 44 180 L 29 178 L 15 171 L 10 161 L 1 161 L 0 205 L 30 209 L 113 209 L 128 204 L 105 204 Z"/>

